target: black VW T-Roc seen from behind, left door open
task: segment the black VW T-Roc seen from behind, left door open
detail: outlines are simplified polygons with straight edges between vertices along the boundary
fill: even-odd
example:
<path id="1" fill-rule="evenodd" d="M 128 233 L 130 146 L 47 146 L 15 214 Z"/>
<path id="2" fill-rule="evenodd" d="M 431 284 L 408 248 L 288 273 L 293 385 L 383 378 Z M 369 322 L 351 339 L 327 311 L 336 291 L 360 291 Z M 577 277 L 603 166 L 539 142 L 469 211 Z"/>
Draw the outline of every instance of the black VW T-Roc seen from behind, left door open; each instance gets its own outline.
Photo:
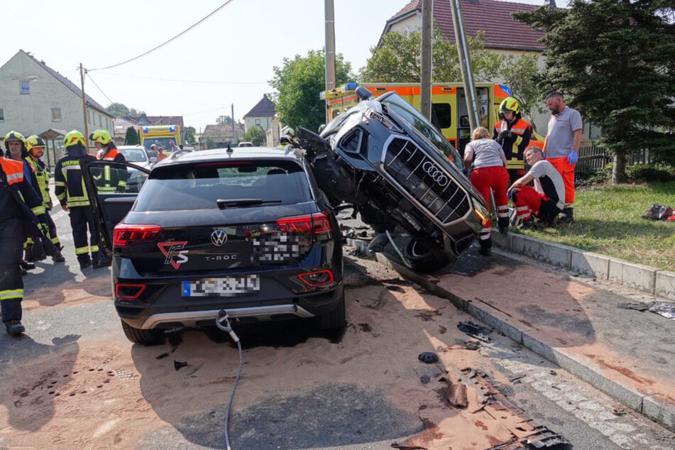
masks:
<path id="1" fill-rule="evenodd" d="M 315 318 L 330 336 L 346 324 L 339 226 L 302 150 L 175 152 L 138 194 L 97 192 L 99 245 L 112 258 L 112 293 L 126 337 L 163 342 L 180 326 Z"/>

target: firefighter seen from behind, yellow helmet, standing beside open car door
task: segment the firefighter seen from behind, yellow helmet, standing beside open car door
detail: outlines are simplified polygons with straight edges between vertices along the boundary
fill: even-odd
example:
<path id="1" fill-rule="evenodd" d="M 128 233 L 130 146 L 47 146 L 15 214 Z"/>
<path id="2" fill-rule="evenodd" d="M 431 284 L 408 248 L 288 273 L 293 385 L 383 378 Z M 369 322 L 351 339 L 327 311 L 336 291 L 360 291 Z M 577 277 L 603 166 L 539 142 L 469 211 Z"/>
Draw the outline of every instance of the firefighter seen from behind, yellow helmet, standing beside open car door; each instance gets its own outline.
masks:
<path id="1" fill-rule="evenodd" d="M 54 192 L 62 209 L 70 216 L 72 240 L 75 242 L 75 255 L 77 255 L 79 268 L 84 269 L 89 265 L 93 265 L 94 268 L 105 267 L 106 261 L 99 257 L 92 204 L 89 202 L 87 191 L 84 190 L 84 180 L 82 180 L 82 164 L 95 161 L 96 158 L 87 153 L 84 136 L 77 130 L 65 135 L 63 145 L 66 155 L 58 160 L 54 169 Z M 89 239 L 87 239 L 87 230 Z"/>

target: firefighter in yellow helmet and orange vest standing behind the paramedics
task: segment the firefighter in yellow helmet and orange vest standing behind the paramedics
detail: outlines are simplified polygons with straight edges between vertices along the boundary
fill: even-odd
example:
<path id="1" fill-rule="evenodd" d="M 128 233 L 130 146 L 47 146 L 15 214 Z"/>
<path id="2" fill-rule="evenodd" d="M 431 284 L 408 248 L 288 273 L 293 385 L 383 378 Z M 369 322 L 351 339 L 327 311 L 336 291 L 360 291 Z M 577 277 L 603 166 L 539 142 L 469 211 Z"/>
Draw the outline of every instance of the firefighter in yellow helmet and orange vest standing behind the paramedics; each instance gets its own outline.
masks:
<path id="1" fill-rule="evenodd" d="M 509 172 L 509 182 L 525 175 L 523 153 L 532 138 L 532 126 L 523 120 L 520 114 L 520 104 L 513 97 L 506 97 L 499 105 L 499 114 L 503 119 L 495 124 L 493 139 L 501 144 L 506 156 L 506 170 Z"/>

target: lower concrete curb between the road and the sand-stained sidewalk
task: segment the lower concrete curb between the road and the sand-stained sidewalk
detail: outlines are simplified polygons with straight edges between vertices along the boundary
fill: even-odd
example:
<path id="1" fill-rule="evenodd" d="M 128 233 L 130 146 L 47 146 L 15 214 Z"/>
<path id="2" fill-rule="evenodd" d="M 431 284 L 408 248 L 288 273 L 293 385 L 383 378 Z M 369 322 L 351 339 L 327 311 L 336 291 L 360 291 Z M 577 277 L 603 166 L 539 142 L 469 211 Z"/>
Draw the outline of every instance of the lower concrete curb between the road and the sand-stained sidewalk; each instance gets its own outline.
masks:
<path id="1" fill-rule="evenodd" d="M 546 247 L 545 243 L 533 242 L 535 240 L 532 238 L 527 239 L 529 239 L 527 245 L 529 245 L 530 248 L 541 249 Z M 571 258 L 571 254 L 565 254 L 564 252 L 561 252 L 561 250 L 561 248 L 551 248 L 550 253 L 553 255 L 562 256 L 563 258 Z M 607 260 L 610 259 L 600 255 L 598 256 Z M 390 260 L 384 253 L 375 253 L 375 259 L 378 260 L 379 263 L 396 270 L 408 280 L 411 280 L 412 282 L 417 283 L 417 285 L 424 287 L 424 289 L 432 292 L 434 295 L 450 300 L 450 302 L 454 304 L 456 308 L 466 312 L 467 314 L 470 314 L 471 317 L 475 317 L 500 333 L 505 334 L 505 336 L 508 336 L 510 339 L 518 342 L 519 344 L 522 344 L 522 346 L 525 346 L 527 349 L 537 353 L 537 355 L 547 358 L 547 360 L 557 364 L 561 368 L 564 368 L 569 373 L 575 375 L 576 377 L 592 385 L 594 388 L 602 391 L 610 397 L 613 397 L 623 405 L 630 407 L 635 412 L 638 412 L 639 414 L 644 415 L 654 422 L 657 422 L 667 429 L 675 432 L 675 402 L 672 402 L 671 400 L 659 394 L 646 395 L 637 392 L 637 390 L 607 378 L 602 373 L 598 373 L 597 371 L 593 370 L 593 368 L 588 366 L 583 361 L 578 361 L 575 356 L 566 353 L 564 350 L 556 349 L 549 346 L 548 344 L 544 344 L 542 341 L 539 341 L 533 336 L 530 336 L 527 333 L 527 330 L 519 329 L 517 326 L 505 322 L 503 319 L 500 319 L 500 317 L 492 314 L 488 309 L 478 307 L 475 303 L 463 300 L 453 293 L 444 290 L 443 288 L 439 287 L 436 282 L 434 282 L 433 275 L 421 275 L 419 273 L 415 273 L 412 270 L 396 263 L 395 261 Z"/>

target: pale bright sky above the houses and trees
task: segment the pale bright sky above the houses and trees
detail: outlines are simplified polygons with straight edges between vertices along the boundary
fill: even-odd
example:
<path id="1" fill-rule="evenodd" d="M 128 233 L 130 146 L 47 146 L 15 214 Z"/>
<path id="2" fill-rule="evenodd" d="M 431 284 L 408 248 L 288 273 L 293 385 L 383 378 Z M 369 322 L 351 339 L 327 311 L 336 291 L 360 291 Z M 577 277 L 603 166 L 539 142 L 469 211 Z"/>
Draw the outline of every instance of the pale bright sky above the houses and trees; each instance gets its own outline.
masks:
<path id="1" fill-rule="evenodd" d="M 22 49 L 79 86 L 82 63 L 90 70 L 84 90 L 103 106 L 114 101 L 150 115 L 180 115 L 197 131 L 230 116 L 233 104 L 241 120 L 272 91 L 268 81 L 284 57 L 324 46 L 324 1 L 231 0 L 168 45 L 102 69 L 146 53 L 225 1 L 4 0 L 0 65 Z M 354 72 L 366 65 L 385 21 L 408 1 L 334 0 L 336 52 Z"/>

